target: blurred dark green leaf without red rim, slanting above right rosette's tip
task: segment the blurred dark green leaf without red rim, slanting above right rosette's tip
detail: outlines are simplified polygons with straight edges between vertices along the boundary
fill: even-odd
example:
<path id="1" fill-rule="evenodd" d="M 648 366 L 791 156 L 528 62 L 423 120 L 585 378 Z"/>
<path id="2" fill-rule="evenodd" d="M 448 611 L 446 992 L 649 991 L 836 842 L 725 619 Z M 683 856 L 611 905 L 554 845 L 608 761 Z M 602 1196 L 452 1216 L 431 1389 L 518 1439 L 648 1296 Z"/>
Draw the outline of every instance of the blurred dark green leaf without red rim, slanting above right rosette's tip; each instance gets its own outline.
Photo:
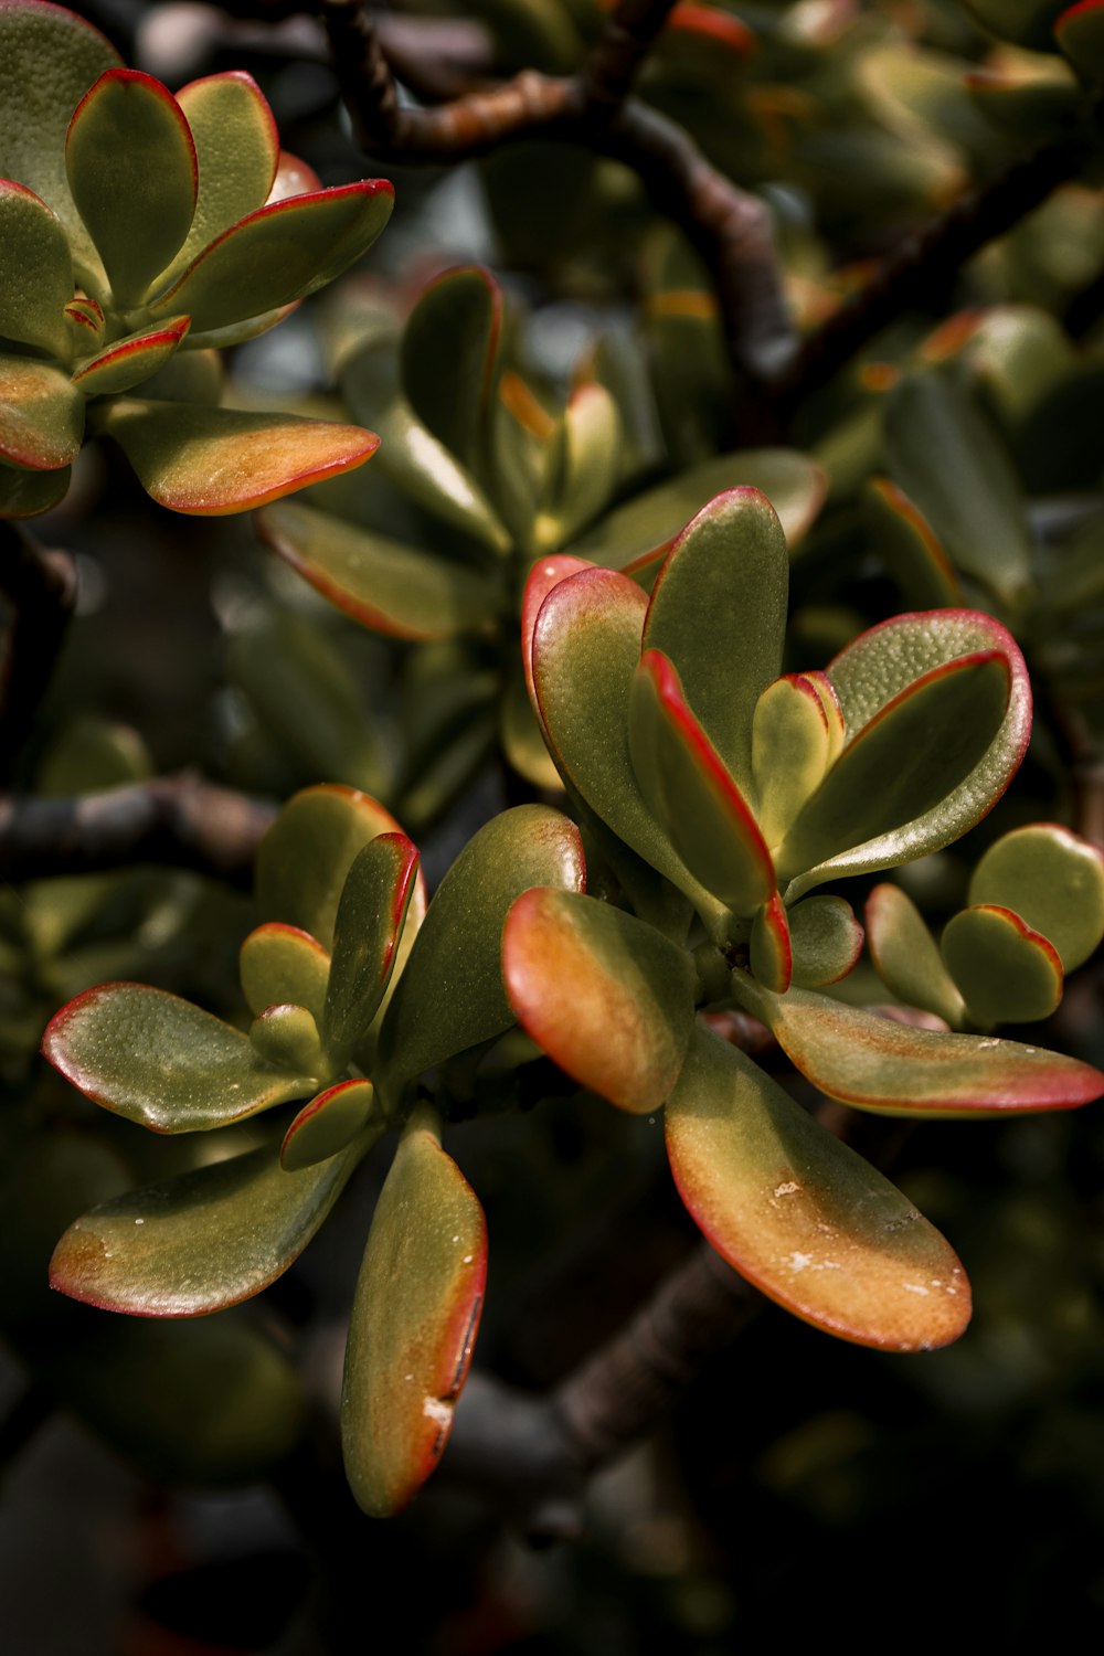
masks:
<path id="1" fill-rule="evenodd" d="M 957 568 L 1020 603 L 1031 590 L 1026 507 L 1008 454 L 967 392 L 940 373 L 907 374 L 886 407 L 886 452 Z"/>

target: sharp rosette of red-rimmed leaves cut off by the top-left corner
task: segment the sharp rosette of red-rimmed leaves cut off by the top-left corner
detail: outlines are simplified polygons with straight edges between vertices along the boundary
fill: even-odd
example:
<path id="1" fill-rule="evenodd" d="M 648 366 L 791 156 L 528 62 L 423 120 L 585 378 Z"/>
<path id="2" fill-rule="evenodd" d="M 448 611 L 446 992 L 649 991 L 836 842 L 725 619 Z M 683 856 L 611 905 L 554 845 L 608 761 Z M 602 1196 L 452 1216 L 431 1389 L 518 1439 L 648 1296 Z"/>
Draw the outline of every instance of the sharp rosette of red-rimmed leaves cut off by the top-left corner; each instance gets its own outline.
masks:
<path id="1" fill-rule="evenodd" d="M 362 464 L 354 426 L 218 406 L 215 346 L 372 243 L 382 179 L 321 189 L 248 75 L 174 98 L 83 18 L 0 8 L 0 515 L 56 505 L 86 436 L 175 512 L 242 512 Z"/>

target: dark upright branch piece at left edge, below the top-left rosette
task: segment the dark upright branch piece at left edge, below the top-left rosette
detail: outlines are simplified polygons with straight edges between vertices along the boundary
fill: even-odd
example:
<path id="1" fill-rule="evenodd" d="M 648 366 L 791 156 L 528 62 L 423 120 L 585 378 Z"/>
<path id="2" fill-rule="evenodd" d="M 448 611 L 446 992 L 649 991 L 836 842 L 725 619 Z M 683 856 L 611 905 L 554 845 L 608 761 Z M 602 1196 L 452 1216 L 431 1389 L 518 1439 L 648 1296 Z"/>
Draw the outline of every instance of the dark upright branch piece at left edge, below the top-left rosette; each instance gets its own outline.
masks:
<path id="1" fill-rule="evenodd" d="M 20 750 L 53 677 L 76 603 L 76 566 L 46 551 L 13 523 L 0 523 L 0 593 L 13 616 L 0 666 L 0 785 L 15 775 Z"/>

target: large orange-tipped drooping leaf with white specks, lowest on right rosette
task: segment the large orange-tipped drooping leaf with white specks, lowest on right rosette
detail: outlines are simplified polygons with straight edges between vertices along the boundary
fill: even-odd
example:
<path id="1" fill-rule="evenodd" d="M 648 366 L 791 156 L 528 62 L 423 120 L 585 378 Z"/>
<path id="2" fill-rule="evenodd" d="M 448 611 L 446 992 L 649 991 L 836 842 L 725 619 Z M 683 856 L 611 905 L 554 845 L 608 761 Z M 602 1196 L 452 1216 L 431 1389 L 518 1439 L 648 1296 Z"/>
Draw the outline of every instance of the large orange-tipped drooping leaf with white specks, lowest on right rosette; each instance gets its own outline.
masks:
<path id="1" fill-rule="evenodd" d="M 927 1351 L 967 1326 L 970 1285 L 938 1230 L 705 1028 L 667 1105 L 667 1153 L 717 1252 L 816 1328 Z"/>

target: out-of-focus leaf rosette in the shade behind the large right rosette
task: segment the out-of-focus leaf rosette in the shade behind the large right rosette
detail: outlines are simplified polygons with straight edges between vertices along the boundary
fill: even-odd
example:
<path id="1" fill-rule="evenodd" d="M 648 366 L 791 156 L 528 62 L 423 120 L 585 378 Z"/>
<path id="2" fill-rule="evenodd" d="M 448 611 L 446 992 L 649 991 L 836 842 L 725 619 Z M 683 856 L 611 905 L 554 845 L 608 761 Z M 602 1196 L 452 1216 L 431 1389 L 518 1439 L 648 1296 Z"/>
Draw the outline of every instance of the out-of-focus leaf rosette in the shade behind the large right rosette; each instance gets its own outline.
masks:
<path id="1" fill-rule="evenodd" d="M 503 295 L 482 268 L 434 282 L 397 343 L 389 311 L 338 328 L 346 402 L 384 436 L 376 485 L 276 503 L 258 525 L 346 614 L 420 646 L 399 792 L 409 820 L 435 815 L 497 742 L 526 778 L 556 782 L 516 659 L 536 558 L 579 546 L 650 578 L 687 517 L 737 482 L 771 495 L 793 542 L 819 508 L 821 472 L 785 449 L 713 457 L 617 503 L 641 465 L 632 394 L 588 371 L 563 404 L 513 368 Z"/>

